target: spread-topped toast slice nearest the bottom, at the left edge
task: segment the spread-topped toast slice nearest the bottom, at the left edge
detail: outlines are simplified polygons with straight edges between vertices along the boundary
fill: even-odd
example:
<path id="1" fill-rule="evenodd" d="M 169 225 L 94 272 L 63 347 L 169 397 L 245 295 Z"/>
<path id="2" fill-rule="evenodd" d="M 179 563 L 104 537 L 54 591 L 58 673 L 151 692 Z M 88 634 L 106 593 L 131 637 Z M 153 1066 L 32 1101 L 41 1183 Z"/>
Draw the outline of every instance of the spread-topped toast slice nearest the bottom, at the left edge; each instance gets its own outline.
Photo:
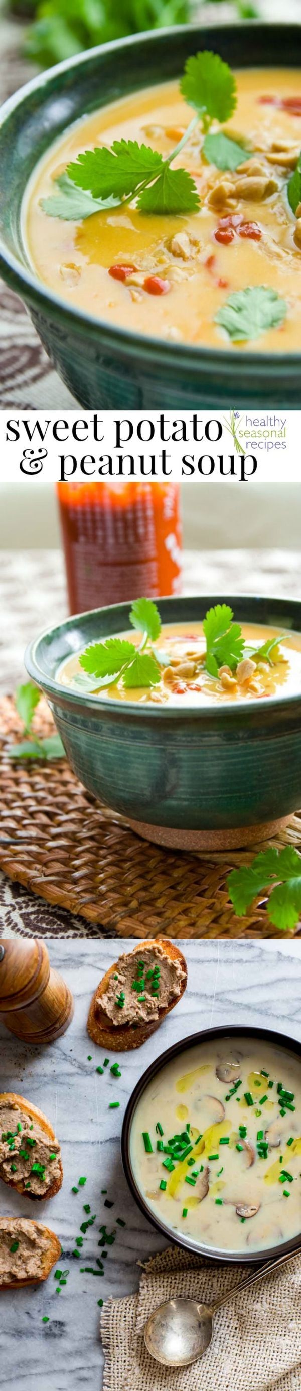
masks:
<path id="1" fill-rule="evenodd" d="M 11 1252 L 15 1241 L 18 1251 Z M 6 1253 L 7 1260 L 4 1260 Z M 47 1280 L 60 1255 L 61 1244 L 49 1227 L 28 1217 L 0 1217 L 0 1291 L 20 1289 L 22 1285 L 36 1285 Z M 4 1280 L 3 1263 L 11 1264 L 11 1280 Z M 33 1263 L 35 1273 L 31 1273 Z M 29 1269 L 22 1274 L 26 1264 Z M 10 1270 L 7 1273 L 10 1274 Z"/>

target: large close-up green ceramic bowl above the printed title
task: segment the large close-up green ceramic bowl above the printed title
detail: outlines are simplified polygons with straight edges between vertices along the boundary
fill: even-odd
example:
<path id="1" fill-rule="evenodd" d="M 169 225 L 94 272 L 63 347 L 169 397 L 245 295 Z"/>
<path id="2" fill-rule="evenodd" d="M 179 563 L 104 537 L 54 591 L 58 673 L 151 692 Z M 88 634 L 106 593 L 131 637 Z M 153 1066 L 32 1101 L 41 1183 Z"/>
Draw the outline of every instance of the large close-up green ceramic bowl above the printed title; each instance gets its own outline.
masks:
<path id="1" fill-rule="evenodd" d="M 178 77 L 202 47 L 233 67 L 301 67 L 301 25 L 185 25 L 123 39 L 43 72 L 1 110 L 0 271 L 25 300 L 63 381 L 93 410 L 300 406 L 301 355 L 209 351 L 125 332 L 64 305 L 28 264 L 22 196 L 45 150 L 95 107 Z"/>

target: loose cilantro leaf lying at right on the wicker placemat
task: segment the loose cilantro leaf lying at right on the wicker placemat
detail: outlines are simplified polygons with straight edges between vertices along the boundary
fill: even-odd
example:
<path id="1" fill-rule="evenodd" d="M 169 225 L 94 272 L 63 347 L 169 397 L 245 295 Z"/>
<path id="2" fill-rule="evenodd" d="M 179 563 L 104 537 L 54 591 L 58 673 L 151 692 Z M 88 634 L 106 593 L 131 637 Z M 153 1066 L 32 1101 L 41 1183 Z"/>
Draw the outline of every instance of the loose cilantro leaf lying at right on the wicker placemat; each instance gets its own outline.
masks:
<path id="1" fill-rule="evenodd" d="M 294 846 L 261 850 L 252 865 L 233 869 L 227 879 L 234 911 L 244 917 L 263 889 L 272 889 L 268 901 L 270 922 L 286 932 L 295 926 L 301 914 L 301 855 Z"/>

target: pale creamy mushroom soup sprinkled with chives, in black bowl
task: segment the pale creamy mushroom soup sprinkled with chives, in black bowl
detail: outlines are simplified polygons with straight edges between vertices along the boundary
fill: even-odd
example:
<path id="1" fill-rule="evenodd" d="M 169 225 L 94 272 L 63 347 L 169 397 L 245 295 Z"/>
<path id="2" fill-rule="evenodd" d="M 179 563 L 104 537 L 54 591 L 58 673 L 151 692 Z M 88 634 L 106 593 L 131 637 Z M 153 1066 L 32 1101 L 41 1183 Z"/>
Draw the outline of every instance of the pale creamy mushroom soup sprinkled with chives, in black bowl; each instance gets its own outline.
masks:
<path id="1" fill-rule="evenodd" d="M 301 1064 L 262 1039 L 199 1043 L 167 1063 L 134 1113 L 131 1167 L 174 1232 L 256 1251 L 301 1230 Z"/>

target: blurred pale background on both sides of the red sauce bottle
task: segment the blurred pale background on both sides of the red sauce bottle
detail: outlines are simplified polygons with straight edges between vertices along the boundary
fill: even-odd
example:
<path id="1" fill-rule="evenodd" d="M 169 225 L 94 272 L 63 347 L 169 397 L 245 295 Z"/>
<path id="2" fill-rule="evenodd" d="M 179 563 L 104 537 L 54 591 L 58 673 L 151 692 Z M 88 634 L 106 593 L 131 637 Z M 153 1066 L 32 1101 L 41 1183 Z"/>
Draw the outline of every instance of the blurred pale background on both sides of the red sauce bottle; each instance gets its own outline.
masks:
<path id="1" fill-rule="evenodd" d="M 300 549 L 300 484 L 185 481 L 181 497 L 187 549 Z M 0 549 L 36 547 L 60 547 L 54 484 L 0 484 Z"/>

